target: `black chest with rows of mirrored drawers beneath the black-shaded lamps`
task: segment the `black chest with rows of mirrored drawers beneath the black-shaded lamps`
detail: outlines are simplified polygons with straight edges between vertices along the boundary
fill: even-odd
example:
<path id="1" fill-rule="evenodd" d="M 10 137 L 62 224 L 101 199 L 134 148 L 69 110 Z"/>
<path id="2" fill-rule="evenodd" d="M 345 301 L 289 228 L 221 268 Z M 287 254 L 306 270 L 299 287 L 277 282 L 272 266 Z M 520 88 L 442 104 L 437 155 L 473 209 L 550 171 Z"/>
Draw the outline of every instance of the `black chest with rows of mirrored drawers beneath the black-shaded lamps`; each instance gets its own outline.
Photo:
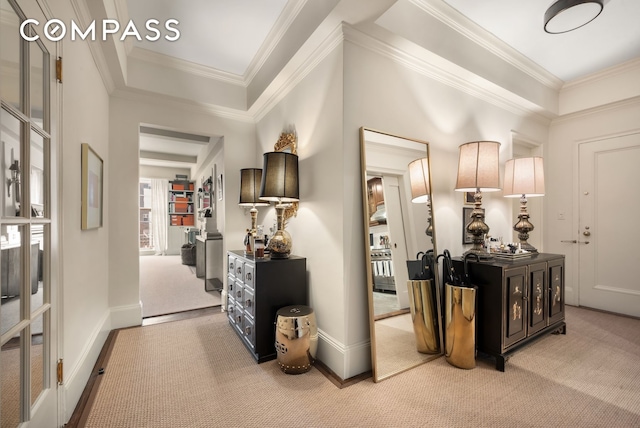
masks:
<path id="1" fill-rule="evenodd" d="M 253 358 L 276 358 L 274 323 L 278 309 L 307 304 L 306 259 L 256 259 L 227 253 L 227 317 Z"/>

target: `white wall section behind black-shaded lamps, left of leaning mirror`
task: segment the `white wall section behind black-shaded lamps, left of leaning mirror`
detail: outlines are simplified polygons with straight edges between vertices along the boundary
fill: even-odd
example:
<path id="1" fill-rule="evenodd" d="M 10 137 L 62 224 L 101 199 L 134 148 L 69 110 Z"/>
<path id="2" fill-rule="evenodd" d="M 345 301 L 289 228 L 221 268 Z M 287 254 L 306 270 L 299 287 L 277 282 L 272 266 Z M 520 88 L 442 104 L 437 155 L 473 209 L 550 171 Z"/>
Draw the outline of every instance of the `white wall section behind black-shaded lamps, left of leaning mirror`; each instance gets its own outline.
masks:
<path id="1" fill-rule="evenodd" d="M 349 341 L 347 326 L 354 322 L 353 314 L 362 311 L 352 311 L 346 301 L 347 290 L 358 284 L 348 277 L 353 260 L 344 242 L 350 225 L 345 201 L 350 205 L 359 193 L 344 186 L 344 176 L 353 172 L 345 163 L 342 144 L 342 65 L 338 46 L 258 122 L 259 155 L 246 166 L 262 165 L 262 153 L 273 151 L 280 133 L 295 126 L 300 205 L 287 231 L 293 239 L 292 253 L 307 258 L 309 305 L 319 330 L 318 358 L 339 376 L 350 377 L 357 373 L 349 371 L 349 348 L 361 345 Z M 268 230 L 275 210 L 261 208 L 258 221 Z M 358 255 L 358 262 L 362 260 Z"/>

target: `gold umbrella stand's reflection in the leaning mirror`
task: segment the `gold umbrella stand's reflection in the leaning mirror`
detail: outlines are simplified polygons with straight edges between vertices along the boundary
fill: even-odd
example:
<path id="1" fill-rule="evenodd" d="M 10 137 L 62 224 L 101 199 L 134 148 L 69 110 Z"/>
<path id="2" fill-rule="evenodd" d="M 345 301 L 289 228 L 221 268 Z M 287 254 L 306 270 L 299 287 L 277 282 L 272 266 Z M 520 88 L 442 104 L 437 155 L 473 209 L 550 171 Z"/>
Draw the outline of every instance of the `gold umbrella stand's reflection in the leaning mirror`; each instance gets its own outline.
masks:
<path id="1" fill-rule="evenodd" d="M 440 352 L 438 310 L 430 279 L 407 281 L 416 347 L 423 354 Z"/>

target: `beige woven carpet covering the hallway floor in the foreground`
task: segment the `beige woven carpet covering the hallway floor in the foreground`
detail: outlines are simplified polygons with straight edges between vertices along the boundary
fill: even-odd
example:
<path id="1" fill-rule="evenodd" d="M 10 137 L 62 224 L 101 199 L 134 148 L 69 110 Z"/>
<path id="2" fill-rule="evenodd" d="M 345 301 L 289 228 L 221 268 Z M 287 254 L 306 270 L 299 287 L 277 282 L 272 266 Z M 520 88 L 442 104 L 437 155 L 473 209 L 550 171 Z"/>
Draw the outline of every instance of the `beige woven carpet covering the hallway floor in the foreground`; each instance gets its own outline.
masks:
<path id="1" fill-rule="evenodd" d="M 438 358 L 343 389 L 256 364 L 224 314 L 120 330 L 85 426 L 640 426 L 640 320 L 567 307 L 567 324 L 504 373 Z"/>

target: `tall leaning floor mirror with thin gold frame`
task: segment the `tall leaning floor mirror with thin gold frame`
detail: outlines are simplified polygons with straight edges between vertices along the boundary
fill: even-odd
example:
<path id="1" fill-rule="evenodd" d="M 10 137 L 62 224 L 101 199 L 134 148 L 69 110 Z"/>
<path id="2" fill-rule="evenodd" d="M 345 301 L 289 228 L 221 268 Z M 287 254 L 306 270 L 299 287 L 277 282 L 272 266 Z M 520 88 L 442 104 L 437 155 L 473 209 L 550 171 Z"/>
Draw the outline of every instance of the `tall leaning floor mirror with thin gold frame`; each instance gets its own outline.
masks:
<path id="1" fill-rule="evenodd" d="M 376 302 L 379 302 L 378 300 L 379 296 L 374 296 L 376 292 L 374 291 L 374 272 L 373 272 L 374 265 L 372 264 L 372 252 L 376 250 L 371 248 L 371 243 L 372 243 L 371 240 L 373 239 L 373 241 L 375 241 L 375 239 L 373 238 L 373 236 L 376 236 L 375 230 L 380 230 L 380 229 L 376 229 L 377 226 L 375 225 L 375 222 L 373 222 L 374 226 L 370 227 L 370 221 L 372 219 L 369 211 L 370 210 L 370 207 L 369 207 L 369 187 L 370 186 L 368 186 L 367 181 L 368 181 L 368 172 L 372 172 L 373 169 L 369 169 L 367 164 L 368 139 L 369 140 L 376 139 L 380 141 L 393 140 L 393 142 L 399 145 L 397 148 L 393 146 L 390 146 L 393 148 L 389 148 L 389 147 L 386 147 L 385 143 L 383 142 L 381 143 L 372 142 L 369 144 L 370 147 L 377 146 L 378 150 L 381 150 L 377 152 L 377 157 L 381 159 L 381 161 L 379 162 L 380 164 L 391 165 L 392 162 L 396 162 L 395 165 L 397 167 L 395 170 L 392 170 L 394 167 L 389 166 L 389 169 L 387 170 L 386 174 L 388 174 L 387 177 L 391 177 L 391 178 L 388 178 L 387 180 L 390 180 L 390 181 L 393 180 L 394 174 L 395 174 L 395 179 L 397 179 L 397 182 L 399 183 L 397 188 L 405 189 L 405 190 L 398 190 L 399 192 L 398 195 L 400 196 L 399 200 L 406 201 L 404 202 L 404 205 L 405 205 L 403 208 L 404 212 L 402 213 L 402 210 L 401 210 L 401 215 L 400 215 L 400 217 L 402 217 L 402 219 L 400 220 L 400 223 L 402 223 L 401 226 L 403 229 L 406 229 L 406 230 L 405 232 L 402 233 L 403 235 L 401 237 L 402 241 L 394 242 L 396 241 L 394 240 L 389 243 L 389 247 L 393 248 L 394 245 L 399 245 L 401 247 L 402 242 L 405 242 L 404 245 L 406 248 L 405 250 L 405 254 L 406 254 L 408 251 L 411 250 L 410 249 L 411 245 L 407 242 L 412 242 L 413 246 L 419 247 L 420 241 L 422 242 L 426 241 L 427 242 L 426 246 L 432 245 L 431 248 L 433 249 L 434 255 L 437 255 L 437 250 L 435 247 L 436 232 L 435 232 L 435 220 L 433 218 L 433 212 L 432 211 L 429 212 L 429 214 L 425 215 L 424 218 L 419 218 L 417 215 L 414 215 L 413 217 L 411 217 L 413 220 L 411 219 L 407 220 L 406 218 L 408 217 L 405 215 L 406 212 L 411 210 L 426 211 L 428 208 L 427 204 L 424 204 L 424 206 L 418 207 L 419 204 L 411 204 L 410 202 L 411 197 L 409 196 L 410 187 L 408 184 L 408 164 L 410 161 L 415 160 L 415 158 L 423 158 L 426 156 L 427 159 L 430 159 L 429 144 L 425 141 L 400 137 L 397 135 L 388 134 L 386 132 L 377 131 L 371 128 L 366 128 L 366 127 L 360 128 L 362 204 L 363 204 L 362 207 L 363 207 L 363 224 L 364 224 L 364 238 L 365 238 L 364 248 L 365 248 L 365 254 L 366 254 L 366 271 L 367 271 L 367 298 L 368 298 L 368 306 L 369 306 L 369 325 L 370 325 L 370 333 L 371 333 L 371 364 L 372 364 L 374 382 L 380 382 L 393 375 L 396 375 L 398 373 L 404 372 L 411 368 L 417 367 L 418 365 L 424 364 L 428 361 L 431 361 L 435 358 L 438 358 L 444 355 L 444 341 L 443 341 L 443 334 L 442 334 L 441 290 L 440 290 L 440 279 L 438 275 L 437 263 L 434 263 L 433 280 L 431 280 L 432 283 L 429 284 L 432 291 L 431 294 L 433 297 L 432 299 L 434 303 L 433 306 L 435 306 L 435 307 L 432 306 L 432 317 L 433 317 L 432 319 L 434 320 L 434 324 L 436 324 L 435 327 L 432 326 L 433 327 L 432 339 L 436 342 L 439 341 L 439 344 L 438 344 L 439 346 L 437 347 L 437 350 L 434 353 L 418 352 L 419 339 L 417 339 L 417 337 L 420 336 L 420 333 L 416 333 L 416 331 L 420 332 L 420 326 L 418 325 L 419 323 L 416 321 L 418 317 L 413 316 L 414 314 L 412 313 L 411 310 L 407 310 L 406 308 L 400 307 L 400 310 L 395 312 L 389 312 L 388 314 L 379 314 L 379 313 L 376 314 L 376 305 L 378 305 L 378 309 L 380 305 L 379 303 L 376 303 Z M 419 149 L 421 145 L 423 145 L 425 149 L 423 152 L 424 153 L 423 155 L 419 155 L 419 152 L 416 150 L 416 149 Z M 405 147 L 401 147 L 401 146 L 405 146 Z M 389 155 L 380 156 L 380 153 L 384 153 L 385 150 L 389 151 L 388 152 Z M 371 149 L 371 151 L 373 151 L 373 149 Z M 412 158 L 413 155 L 415 155 L 415 158 Z M 396 158 L 395 161 L 392 158 Z M 406 170 L 404 173 L 399 169 L 400 165 L 402 164 L 406 166 Z M 385 166 L 383 167 L 376 166 L 375 168 L 380 169 L 380 171 L 373 171 L 376 174 L 385 174 L 385 172 L 383 171 L 386 168 Z M 430 173 L 429 173 L 429 184 L 431 184 Z M 385 195 L 385 199 L 386 199 L 386 195 Z M 431 198 L 431 195 L 429 195 L 429 199 L 431 202 L 433 201 Z M 388 202 L 388 201 L 385 201 L 385 202 Z M 403 203 L 398 202 L 398 204 L 402 206 Z M 394 211 L 390 212 L 390 209 L 391 209 L 391 204 L 388 204 L 388 206 L 385 206 L 385 211 L 388 213 L 387 218 L 384 220 L 385 223 L 387 222 L 387 220 L 391 219 L 390 217 L 391 214 L 398 212 L 397 209 L 394 209 Z M 419 211 L 419 212 L 422 213 L 423 211 Z M 413 212 L 416 212 L 416 211 L 412 211 L 412 213 Z M 429 218 L 431 219 L 431 224 L 433 225 L 433 230 L 432 232 L 430 232 L 431 236 L 427 236 L 425 234 L 425 227 L 424 227 L 424 225 L 427 224 L 427 221 L 429 220 Z M 398 220 L 396 219 L 394 222 L 396 223 L 396 227 L 397 227 Z M 407 222 L 409 224 L 405 224 Z M 421 226 L 418 226 L 418 223 L 420 223 Z M 415 225 L 416 230 L 409 231 L 409 228 L 411 227 L 411 225 Z M 391 227 L 392 225 L 391 225 L 391 222 L 389 221 L 389 228 Z M 372 230 L 374 230 L 374 233 L 371 232 Z M 398 229 L 395 229 L 395 230 L 398 230 Z M 409 234 L 413 234 L 413 236 L 409 236 Z M 418 237 L 418 235 L 420 236 Z M 391 233 L 389 233 L 388 237 L 390 236 L 392 236 Z M 420 248 L 420 250 L 426 251 L 427 250 L 426 246 L 423 248 Z M 393 251 L 393 253 L 402 254 L 401 251 L 400 252 Z M 414 259 L 415 256 L 416 254 L 407 254 L 407 260 Z M 394 257 L 392 256 L 391 258 L 393 259 Z M 404 269 L 404 272 L 402 274 L 394 271 L 397 277 L 402 277 L 404 275 L 406 278 L 408 278 L 409 274 L 408 274 L 408 269 L 406 265 L 406 260 L 395 259 L 393 260 L 393 263 L 394 263 L 394 266 L 397 266 L 398 268 L 404 265 L 404 267 L 402 268 Z M 417 281 L 412 281 L 412 282 L 415 283 Z M 407 283 L 395 284 L 395 285 L 397 286 L 395 289 L 396 293 L 397 294 L 404 293 L 406 291 L 406 294 L 409 300 L 414 299 L 416 294 L 419 294 L 419 293 L 415 293 L 415 288 L 413 286 L 409 287 Z M 399 287 L 404 287 L 404 288 L 400 289 Z M 377 294 L 379 295 L 380 293 L 377 293 Z M 422 294 L 425 294 L 425 293 L 423 292 Z M 374 302 L 374 299 L 376 300 L 376 302 Z M 401 302 L 402 300 L 403 299 L 401 297 L 398 297 L 398 302 Z M 415 307 L 416 305 L 409 304 L 409 306 Z M 424 349 L 423 349 L 423 352 L 424 352 Z"/>

